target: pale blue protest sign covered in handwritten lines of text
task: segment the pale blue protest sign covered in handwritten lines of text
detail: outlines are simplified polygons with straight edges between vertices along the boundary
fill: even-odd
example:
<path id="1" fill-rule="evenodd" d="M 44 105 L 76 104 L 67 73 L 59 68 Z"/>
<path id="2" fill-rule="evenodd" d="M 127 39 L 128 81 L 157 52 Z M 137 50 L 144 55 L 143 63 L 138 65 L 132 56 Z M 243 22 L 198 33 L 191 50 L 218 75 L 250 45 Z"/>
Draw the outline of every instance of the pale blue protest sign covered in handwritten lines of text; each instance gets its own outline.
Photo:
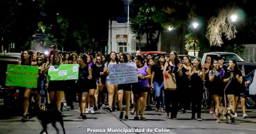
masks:
<path id="1" fill-rule="evenodd" d="M 109 64 L 110 84 L 126 84 L 138 82 L 136 63 Z"/>

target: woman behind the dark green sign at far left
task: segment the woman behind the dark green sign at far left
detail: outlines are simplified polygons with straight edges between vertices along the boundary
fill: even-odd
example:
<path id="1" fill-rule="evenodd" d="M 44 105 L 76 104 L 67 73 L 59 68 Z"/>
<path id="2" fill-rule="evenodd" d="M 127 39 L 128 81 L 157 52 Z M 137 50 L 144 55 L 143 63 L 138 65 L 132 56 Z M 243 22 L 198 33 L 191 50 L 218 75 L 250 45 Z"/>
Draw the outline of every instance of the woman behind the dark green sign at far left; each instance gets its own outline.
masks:
<path id="1" fill-rule="evenodd" d="M 18 62 L 18 65 L 24 65 L 24 66 L 36 66 L 31 60 L 30 60 L 30 53 L 28 52 L 28 50 L 24 50 L 22 52 L 22 60 L 20 60 Z M 23 117 L 21 119 L 22 122 L 26 122 L 27 121 L 27 113 L 28 113 L 28 107 L 29 107 L 29 96 L 31 93 L 32 88 L 26 88 L 25 92 L 24 92 L 24 96 L 23 96 Z"/>

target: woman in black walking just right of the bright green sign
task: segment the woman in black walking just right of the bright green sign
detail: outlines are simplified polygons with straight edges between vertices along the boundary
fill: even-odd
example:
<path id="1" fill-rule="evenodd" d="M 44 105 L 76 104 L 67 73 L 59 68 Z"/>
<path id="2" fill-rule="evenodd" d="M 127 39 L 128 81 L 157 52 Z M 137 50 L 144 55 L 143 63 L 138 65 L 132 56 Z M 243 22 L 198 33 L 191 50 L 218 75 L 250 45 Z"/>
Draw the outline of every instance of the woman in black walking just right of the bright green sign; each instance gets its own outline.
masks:
<path id="1" fill-rule="evenodd" d="M 89 84 L 92 80 L 92 68 L 86 64 L 87 56 L 80 54 L 78 56 L 79 74 L 78 80 L 76 81 L 76 89 L 78 94 L 78 102 L 80 107 L 80 116 L 78 118 L 86 119 L 85 109 L 86 100 L 88 98 Z"/>

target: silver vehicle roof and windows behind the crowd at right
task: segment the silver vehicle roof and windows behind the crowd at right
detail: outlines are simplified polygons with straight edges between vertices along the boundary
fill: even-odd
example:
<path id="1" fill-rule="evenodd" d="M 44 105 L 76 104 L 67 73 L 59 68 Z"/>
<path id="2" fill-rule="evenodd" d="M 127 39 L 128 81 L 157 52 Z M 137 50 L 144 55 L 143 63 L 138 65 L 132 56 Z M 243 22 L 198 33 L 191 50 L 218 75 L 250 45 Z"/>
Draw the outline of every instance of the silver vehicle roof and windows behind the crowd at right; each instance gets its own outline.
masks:
<path id="1" fill-rule="evenodd" d="M 204 52 L 202 56 L 202 65 L 206 63 L 206 56 L 210 56 L 212 60 L 221 56 L 224 60 L 224 64 L 228 63 L 231 59 L 236 60 L 237 62 L 245 62 L 240 56 L 232 52 Z"/>

